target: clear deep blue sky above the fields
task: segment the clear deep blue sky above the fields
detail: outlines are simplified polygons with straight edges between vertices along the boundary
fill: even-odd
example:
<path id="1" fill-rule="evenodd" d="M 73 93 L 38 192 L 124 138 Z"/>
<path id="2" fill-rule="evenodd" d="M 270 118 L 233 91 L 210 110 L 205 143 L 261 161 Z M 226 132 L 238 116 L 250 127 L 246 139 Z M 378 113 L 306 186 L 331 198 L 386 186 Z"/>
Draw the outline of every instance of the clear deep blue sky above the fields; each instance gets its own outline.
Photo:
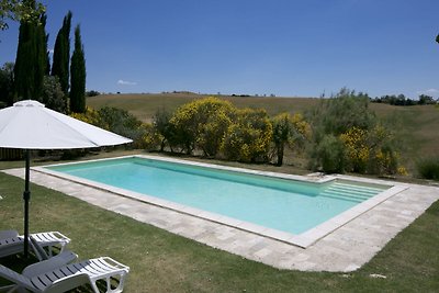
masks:
<path id="1" fill-rule="evenodd" d="M 439 98 L 437 0 L 43 3 L 49 48 L 68 10 L 81 25 L 89 90 Z M 13 61 L 18 25 L 0 41 L 0 65 Z"/>

